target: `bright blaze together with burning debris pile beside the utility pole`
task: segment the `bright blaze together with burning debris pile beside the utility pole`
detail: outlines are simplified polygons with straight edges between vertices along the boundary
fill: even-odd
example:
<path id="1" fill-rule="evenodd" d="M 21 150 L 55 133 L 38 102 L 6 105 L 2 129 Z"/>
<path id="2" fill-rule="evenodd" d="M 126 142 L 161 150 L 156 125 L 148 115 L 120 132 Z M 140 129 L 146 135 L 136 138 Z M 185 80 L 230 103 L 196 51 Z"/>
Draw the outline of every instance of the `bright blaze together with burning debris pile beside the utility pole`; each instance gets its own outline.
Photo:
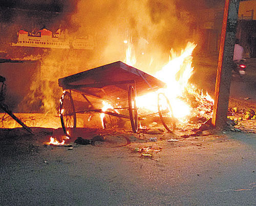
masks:
<path id="1" fill-rule="evenodd" d="M 172 107 L 173 116 L 177 124 L 190 122 L 192 124 L 203 123 L 211 118 L 214 100 L 206 92 L 199 90 L 195 85 L 188 83 L 193 74 L 191 67 L 194 43 L 188 42 L 186 48 L 178 56 L 174 50 L 171 50 L 170 61 L 162 70 L 156 73 L 157 78 L 164 81 L 166 89 L 161 92 L 167 97 Z M 148 99 L 151 99 L 148 101 Z M 150 93 L 145 96 L 137 97 L 139 108 L 157 112 L 157 105 L 154 105 L 156 94 Z"/>

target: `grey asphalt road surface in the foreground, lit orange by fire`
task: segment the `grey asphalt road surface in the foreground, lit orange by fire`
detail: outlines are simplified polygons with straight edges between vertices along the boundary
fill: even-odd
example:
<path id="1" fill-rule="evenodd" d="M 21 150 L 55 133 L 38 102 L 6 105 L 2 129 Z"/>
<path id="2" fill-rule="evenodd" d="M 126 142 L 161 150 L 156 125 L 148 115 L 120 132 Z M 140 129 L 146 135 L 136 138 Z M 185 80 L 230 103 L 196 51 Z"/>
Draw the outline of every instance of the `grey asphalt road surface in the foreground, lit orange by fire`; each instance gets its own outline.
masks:
<path id="1" fill-rule="evenodd" d="M 1 205 L 256 205 L 255 134 L 164 142 L 154 159 L 135 146 L 7 143 Z"/>

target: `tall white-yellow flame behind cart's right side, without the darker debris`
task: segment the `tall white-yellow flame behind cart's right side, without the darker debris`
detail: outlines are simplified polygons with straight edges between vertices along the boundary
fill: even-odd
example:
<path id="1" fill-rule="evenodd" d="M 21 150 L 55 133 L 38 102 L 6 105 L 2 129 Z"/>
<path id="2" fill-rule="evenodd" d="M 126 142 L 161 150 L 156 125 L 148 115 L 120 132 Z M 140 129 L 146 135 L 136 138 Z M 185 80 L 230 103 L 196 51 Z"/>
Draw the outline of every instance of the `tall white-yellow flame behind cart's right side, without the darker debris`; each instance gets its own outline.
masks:
<path id="1" fill-rule="evenodd" d="M 190 106 L 182 101 L 180 97 L 188 86 L 190 76 L 193 74 L 194 68 L 191 66 L 191 54 L 195 47 L 195 43 L 188 42 L 186 48 L 181 51 L 179 56 L 173 49 L 171 49 L 169 62 L 155 74 L 156 78 L 166 83 L 167 87 L 165 89 L 161 89 L 160 92 L 164 93 L 169 99 L 170 105 L 173 108 L 174 116 L 179 120 L 182 120 L 185 116 L 189 115 L 191 111 Z M 148 99 L 152 100 L 149 101 Z M 139 108 L 157 111 L 156 93 L 137 97 L 136 100 Z"/>

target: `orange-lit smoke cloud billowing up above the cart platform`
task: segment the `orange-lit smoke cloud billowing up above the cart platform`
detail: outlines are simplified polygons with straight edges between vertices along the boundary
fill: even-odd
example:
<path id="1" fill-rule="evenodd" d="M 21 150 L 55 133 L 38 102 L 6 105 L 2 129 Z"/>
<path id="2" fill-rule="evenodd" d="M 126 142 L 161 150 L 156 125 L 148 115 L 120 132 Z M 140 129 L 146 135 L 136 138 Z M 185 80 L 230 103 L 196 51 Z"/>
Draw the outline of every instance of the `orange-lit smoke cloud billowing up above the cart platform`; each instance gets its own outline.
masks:
<path id="1" fill-rule="evenodd" d="M 76 35 L 95 36 L 93 65 L 122 61 L 127 48 L 123 41 L 128 40 L 135 48 L 139 69 L 154 73 L 158 61 L 168 60 L 170 48 L 187 43 L 189 31 L 179 19 L 180 11 L 174 0 L 79 1 L 71 21 L 78 28 Z"/>

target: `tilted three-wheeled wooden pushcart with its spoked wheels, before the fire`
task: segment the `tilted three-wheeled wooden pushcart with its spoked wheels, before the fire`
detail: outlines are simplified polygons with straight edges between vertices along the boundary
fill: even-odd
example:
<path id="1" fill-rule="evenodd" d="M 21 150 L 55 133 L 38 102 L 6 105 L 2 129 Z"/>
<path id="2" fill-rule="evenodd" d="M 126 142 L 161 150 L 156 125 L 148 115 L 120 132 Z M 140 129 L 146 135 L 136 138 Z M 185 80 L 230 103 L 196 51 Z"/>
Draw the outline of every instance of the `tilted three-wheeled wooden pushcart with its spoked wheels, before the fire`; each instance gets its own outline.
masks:
<path id="1" fill-rule="evenodd" d="M 58 80 L 58 84 L 64 90 L 60 99 L 60 120 L 63 131 L 67 134 L 68 127 L 76 127 L 76 113 L 105 113 L 120 118 L 130 119 L 134 133 L 138 131 L 138 108 L 136 107 L 136 96 L 148 92 L 157 91 L 166 85 L 139 69 L 124 64 L 121 61 L 103 65 L 97 68 L 76 73 Z M 80 93 L 91 105 L 90 110 L 76 111 L 71 91 Z M 102 99 L 111 102 L 113 105 L 127 105 L 127 107 L 114 108 L 112 111 L 97 109 L 93 106 L 88 97 Z M 165 103 L 163 104 L 162 100 Z M 126 102 L 126 103 L 125 103 Z M 166 106 L 167 104 L 167 106 Z M 167 108 L 167 109 L 166 109 Z M 128 110 L 129 115 L 114 112 L 116 110 Z M 158 110 L 165 128 L 170 128 L 164 116 L 171 112 L 170 104 L 166 96 L 158 94 Z"/>

